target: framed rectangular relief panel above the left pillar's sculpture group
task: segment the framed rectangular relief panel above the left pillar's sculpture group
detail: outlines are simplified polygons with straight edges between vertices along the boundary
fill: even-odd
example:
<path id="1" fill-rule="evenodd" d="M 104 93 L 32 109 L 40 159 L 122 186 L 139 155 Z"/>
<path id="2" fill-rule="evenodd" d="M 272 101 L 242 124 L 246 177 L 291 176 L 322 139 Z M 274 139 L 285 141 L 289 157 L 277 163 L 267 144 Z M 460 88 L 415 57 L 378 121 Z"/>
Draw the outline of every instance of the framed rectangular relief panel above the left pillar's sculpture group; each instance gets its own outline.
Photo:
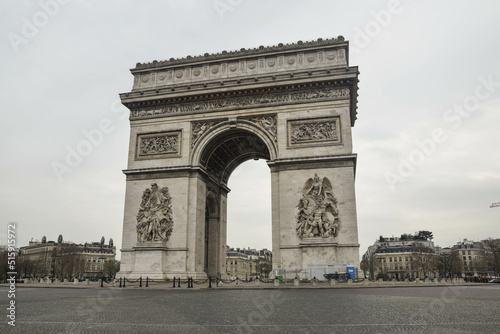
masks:
<path id="1" fill-rule="evenodd" d="M 136 160 L 180 157 L 181 135 L 181 130 L 137 134 Z"/>

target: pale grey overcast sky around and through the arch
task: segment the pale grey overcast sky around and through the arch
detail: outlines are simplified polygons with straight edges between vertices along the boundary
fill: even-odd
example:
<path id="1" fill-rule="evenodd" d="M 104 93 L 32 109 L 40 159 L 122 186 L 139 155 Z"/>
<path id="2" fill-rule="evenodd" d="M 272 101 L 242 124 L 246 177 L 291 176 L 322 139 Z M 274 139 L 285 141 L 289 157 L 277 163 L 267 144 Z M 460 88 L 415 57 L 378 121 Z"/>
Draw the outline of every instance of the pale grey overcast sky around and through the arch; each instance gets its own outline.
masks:
<path id="1" fill-rule="evenodd" d="M 19 246 L 62 234 L 121 247 L 129 122 L 117 101 L 137 62 L 338 35 L 361 72 L 360 253 L 419 230 L 442 247 L 499 238 L 498 13 L 494 0 L 2 1 L 0 244 L 17 222 Z M 58 176 L 106 119 L 102 140 Z M 271 248 L 265 162 L 244 163 L 229 186 L 228 244 Z"/>

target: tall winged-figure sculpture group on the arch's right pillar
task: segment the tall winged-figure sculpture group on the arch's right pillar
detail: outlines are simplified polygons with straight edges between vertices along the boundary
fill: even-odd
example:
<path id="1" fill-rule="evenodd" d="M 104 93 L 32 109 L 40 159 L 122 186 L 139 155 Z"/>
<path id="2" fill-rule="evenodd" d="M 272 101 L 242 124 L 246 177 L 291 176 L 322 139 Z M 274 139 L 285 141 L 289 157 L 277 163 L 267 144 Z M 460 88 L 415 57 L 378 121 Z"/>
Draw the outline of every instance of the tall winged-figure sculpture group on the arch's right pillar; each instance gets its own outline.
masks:
<path id="1" fill-rule="evenodd" d="M 326 177 L 321 180 L 317 174 L 304 184 L 302 198 L 297 205 L 297 235 L 306 237 L 336 237 L 340 221 L 337 199 L 332 193 L 332 184 Z"/>

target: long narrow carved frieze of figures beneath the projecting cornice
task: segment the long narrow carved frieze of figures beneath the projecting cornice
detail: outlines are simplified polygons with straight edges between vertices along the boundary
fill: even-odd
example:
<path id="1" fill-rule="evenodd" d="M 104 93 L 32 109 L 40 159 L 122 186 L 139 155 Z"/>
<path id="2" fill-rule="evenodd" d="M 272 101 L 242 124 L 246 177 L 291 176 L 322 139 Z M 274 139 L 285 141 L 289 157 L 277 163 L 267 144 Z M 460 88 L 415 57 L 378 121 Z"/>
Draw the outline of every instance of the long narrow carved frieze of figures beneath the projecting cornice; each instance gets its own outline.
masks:
<path id="1" fill-rule="evenodd" d="M 254 96 L 226 97 L 209 101 L 169 104 L 165 106 L 135 109 L 130 112 L 131 119 L 161 116 L 175 113 L 212 111 L 216 109 L 258 106 L 274 103 L 287 103 L 329 98 L 349 97 L 348 87 L 320 88 L 306 91 L 268 93 Z"/>

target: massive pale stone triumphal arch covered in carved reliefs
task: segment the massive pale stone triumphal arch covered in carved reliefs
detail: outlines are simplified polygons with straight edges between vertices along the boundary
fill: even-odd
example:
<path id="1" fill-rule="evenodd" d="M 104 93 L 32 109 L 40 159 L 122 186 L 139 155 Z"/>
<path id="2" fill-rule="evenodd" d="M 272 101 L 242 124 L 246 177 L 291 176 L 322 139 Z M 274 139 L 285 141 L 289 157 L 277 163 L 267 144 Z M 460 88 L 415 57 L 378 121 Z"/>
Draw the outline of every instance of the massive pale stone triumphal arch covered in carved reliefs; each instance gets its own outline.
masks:
<path id="1" fill-rule="evenodd" d="M 351 127 L 358 68 L 339 36 L 138 63 L 120 274 L 224 276 L 231 172 L 271 172 L 273 269 L 358 266 Z"/>

